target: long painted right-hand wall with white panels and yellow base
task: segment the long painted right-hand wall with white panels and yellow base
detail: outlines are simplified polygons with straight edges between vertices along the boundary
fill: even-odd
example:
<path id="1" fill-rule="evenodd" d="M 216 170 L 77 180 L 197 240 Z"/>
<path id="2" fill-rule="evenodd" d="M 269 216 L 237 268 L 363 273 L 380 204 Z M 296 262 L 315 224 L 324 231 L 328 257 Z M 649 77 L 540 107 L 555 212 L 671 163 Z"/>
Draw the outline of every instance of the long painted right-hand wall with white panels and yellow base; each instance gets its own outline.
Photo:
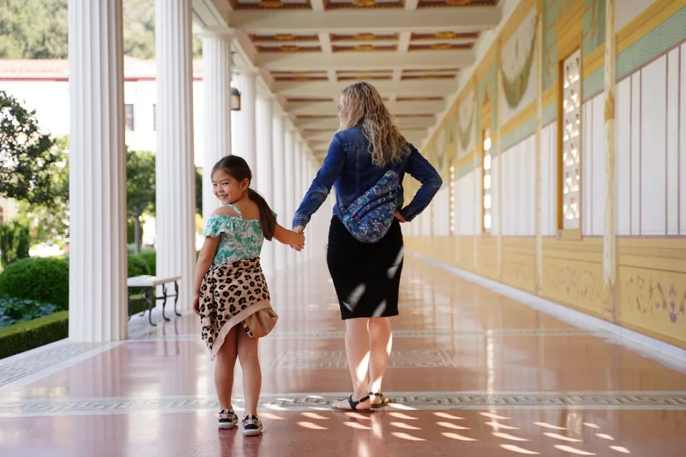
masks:
<path id="1" fill-rule="evenodd" d="M 615 14 L 616 29 L 621 29 L 617 35 L 619 80 L 615 93 L 615 164 L 620 194 L 615 295 L 608 295 L 611 289 L 603 277 L 603 239 L 597 236 L 602 234 L 604 221 L 604 207 L 597 202 L 605 201 L 605 111 L 602 100 L 600 104 L 597 101 L 602 96 L 595 99 L 603 89 L 605 0 L 520 1 L 426 149 L 442 169 L 446 164 L 459 164 L 454 186 L 456 236 L 408 238 L 407 247 L 468 271 L 474 271 L 476 263 L 476 272 L 482 276 L 502 275 L 500 280 L 509 286 L 537 293 L 532 236 L 535 219 L 528 208 L 532 209 L 535 199 L 530 159 L 535 151 L 532 124 L 538 59 L 534 46 L 536 5 L 540 4 L 542 103 L 546 119 L 541 134 L 542 170 L 548 176 L 542 179 L 540 195 L 544 238 L 542 288 L 538 293 L 600 318 L 610 318 L 607 311 L 614 309 L 613 318 L 621 326 L 686 348 L 686 241 L 678 236 L 686 233 L 686 186 L 677 186 L 684 182 L 686 170 L 686 141 L 683 134 L 681 141 L 678 136 L 678 132 L 686 131 L 686 7 L 682 1 L 673 0 L 626 3 L 617 1 Z M 595 236 L 567 240 L 555 236 L 559 159 L 556 89 L 560 59 L 577 49 L 582 52 L 582 122 L 587 130 L 586 152 L 582 153 L 586 157 L 582 169 L 586 172 L 587 196 L 583 217 L 585 233 Z M 661 58 L 662 54 L 669 56 Z M 660 71 L 656 73 L 657 66 Z M 625 76 L 628 78 L 622 81 Z M 642 76 L 645 81 L 653 81 L 653 86 L 646 89 Z M 496 82 L 497 77 L 502 84 Z M 662 99 L 656 99 L 657 96 Z M 489 119 L 482 116 L 487 112 L 486 101 Z M 501 114 L 502 156 L 492 164 L 502 165 L 503 171 L 502 238 L 481 236 L 479 230 L 474 231 L 474 221 L 479 221 L 482 211 L 477 193 L 480 188 L 475 181 L 481 176 L 481 161 L 479 154 L 469 156 L 480 149 L 481 130 L 485 127 L 482 122 L 490 121 L 492 135 L 497 134 L 497 111 Z M 649 150 L 652 161 L 646 159 Z M 656 178 L 651 181 L 650 176 Z M 417 187 L 412 189 L 413 194 Z M 422 225 L 422 221 L 416 225 Z M 429 232 L 417 229 L 414 233 Z M 647 233 L 653 236 L 645 236 Z"/>

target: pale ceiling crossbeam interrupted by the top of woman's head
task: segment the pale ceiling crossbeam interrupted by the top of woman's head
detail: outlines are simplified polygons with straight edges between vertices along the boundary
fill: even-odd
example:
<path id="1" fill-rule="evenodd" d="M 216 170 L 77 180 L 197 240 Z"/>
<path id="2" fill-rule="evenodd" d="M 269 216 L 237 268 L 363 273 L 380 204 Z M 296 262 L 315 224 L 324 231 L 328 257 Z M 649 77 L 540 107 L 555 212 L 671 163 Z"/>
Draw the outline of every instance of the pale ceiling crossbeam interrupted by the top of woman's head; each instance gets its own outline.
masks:
<path id="1" fill-rule="evenodd" d="M 341 93 L 351 81 L 287 81 L 275 82 L 272 90 L 287 97 L 334 97 Z M 371 81 L 382 94 L 402 96 L 447 96 L 457 91 L 457 79 L 409 81 Z M 332 108 L 335 108 L 335 104 Z"/>

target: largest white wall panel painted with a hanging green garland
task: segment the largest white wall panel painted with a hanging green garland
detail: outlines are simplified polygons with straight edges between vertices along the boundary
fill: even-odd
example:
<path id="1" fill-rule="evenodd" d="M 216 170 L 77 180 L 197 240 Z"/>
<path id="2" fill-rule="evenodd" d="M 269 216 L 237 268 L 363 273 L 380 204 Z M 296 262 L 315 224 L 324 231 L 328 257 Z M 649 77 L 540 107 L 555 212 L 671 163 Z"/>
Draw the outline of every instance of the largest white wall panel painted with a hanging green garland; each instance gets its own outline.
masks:
<path id="1" fill-rule="evenodd" d="M 502 124 L 536 99 L 536 21 L 537 9 L 532 9 L 500 50 Z"/>

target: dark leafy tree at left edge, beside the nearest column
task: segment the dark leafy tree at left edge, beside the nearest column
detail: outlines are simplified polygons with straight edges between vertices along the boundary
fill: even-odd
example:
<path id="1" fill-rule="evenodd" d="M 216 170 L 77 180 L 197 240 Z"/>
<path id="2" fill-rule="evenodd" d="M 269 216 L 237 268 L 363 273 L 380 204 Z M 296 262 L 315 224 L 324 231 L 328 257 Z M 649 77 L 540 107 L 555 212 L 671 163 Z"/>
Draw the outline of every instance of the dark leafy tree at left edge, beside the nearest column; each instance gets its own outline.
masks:
<path id="1" fill-rule="evenodd" d="M 36 111 L 0 91 L 0 195 L 30 203 L 53 199 L 54 140 L 39 132 Z"/>

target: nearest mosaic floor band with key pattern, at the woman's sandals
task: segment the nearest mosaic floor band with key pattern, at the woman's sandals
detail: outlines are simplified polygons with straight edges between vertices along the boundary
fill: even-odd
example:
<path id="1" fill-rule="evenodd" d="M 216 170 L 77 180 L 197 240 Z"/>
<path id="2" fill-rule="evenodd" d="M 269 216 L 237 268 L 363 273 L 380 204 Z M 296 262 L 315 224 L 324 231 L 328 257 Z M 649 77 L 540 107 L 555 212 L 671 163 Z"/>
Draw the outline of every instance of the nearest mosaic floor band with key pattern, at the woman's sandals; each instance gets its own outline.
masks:
<path id="1" fill-rule="evenodd" d="M 389 392 L 392 403 L 385 411 L 512 410 L 512 409 L 602 409 L 686 411 L 682 392 Z M 347 393 L 270 394 L 260 398 L 262 411 L 317 411 L 329 409 Z M 234 398 L 242 411 L 244 401 Z M 87 416 L 155 413 L 217 412 L 213 396 L 34 398 L 0 402 L 0 418 L 32 416 Z"/>

